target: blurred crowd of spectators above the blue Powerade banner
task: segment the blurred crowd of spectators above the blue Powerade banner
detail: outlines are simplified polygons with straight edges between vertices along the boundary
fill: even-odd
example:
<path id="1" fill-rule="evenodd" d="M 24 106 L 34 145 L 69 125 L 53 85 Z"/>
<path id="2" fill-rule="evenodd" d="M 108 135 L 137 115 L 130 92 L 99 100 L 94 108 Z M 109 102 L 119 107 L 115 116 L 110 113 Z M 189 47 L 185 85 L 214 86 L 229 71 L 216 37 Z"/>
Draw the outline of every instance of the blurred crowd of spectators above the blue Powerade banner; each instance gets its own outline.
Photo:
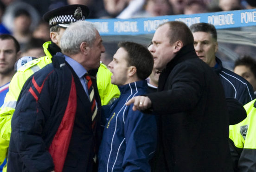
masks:
<path id="1" fill-rule="evenodd" d="M 12 34 L 21 51 L 32 38 L 49 41 L 49 25 L 41 20 L 43 14 L 72 4 L 88 6 L 88 18 L 140 18 L 256 7 L 254 0 L 0 0 L 0 34 Z"/>

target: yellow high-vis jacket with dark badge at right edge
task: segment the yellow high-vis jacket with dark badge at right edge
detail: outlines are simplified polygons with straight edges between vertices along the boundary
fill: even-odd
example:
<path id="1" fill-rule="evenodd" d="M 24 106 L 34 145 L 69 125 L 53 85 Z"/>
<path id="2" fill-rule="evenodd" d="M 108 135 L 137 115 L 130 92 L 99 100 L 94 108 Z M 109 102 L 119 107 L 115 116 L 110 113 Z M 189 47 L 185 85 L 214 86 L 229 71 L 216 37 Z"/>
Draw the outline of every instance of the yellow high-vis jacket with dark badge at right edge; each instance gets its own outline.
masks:
<path id="1" fill-rule="evenodd" d="M 256 172 L 256 99 L 243 107 L 247 117 L 236 125 L 230 125 L 231 156 L 235 172 Z"/>

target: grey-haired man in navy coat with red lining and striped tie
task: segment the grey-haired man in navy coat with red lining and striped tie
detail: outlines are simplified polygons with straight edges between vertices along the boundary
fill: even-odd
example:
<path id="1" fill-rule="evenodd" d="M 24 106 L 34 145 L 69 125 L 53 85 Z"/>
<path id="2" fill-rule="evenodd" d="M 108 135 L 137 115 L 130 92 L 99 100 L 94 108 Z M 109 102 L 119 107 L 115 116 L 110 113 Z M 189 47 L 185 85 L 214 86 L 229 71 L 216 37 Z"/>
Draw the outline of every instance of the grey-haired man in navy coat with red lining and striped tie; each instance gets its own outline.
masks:
<path id="1" fill-rule="evenodd" d="M 86 28 L 86 29 L 84 29 Z M 8 172 L 94 172 L 101 132 L 96 73 L 102 39 L 78 21 L 61 38 L 62 53 L 25 83 L 12 119 Z"/>

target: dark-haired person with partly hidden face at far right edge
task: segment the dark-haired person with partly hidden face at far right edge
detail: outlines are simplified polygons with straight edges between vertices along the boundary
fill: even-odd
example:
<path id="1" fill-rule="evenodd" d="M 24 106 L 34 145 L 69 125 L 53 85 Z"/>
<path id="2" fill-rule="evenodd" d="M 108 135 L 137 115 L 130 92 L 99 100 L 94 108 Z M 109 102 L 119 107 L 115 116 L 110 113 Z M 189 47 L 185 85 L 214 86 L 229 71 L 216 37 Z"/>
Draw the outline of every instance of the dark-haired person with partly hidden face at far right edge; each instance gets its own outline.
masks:
<path id="1" fill-rule="evenodd" d="M 251 56 L 244 56 L 235 61 L 234 73 L 250 82 L 256 94 L 256 61 Z"/>

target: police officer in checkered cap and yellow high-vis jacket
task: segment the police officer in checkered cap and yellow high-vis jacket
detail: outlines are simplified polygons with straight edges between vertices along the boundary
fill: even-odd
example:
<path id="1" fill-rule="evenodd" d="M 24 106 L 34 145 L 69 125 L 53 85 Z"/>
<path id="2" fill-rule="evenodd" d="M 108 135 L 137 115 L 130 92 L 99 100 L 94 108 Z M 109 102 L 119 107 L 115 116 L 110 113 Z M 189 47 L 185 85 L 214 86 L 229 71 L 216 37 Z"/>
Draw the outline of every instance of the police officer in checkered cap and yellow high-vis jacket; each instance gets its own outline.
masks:
<path id="1" fill-rule="evenodd" d="M 51 37 L 51 42 L 46 42 L 43 45 L 46 56 L 30 61 L 19 68 L 11 80 L 9 92 L 6 94 L 4 104 L 0 108 L 0 164 L 7 155 L 11 135 L 11 119 L 23 85 L 32 74 L 51 63 L 53 55 L 61 52 L 59 48 L 60 39 L 69 24 L 84 20 L 88 15 L 89 9 L 87 6 L 70 5 L 54 9 L 43 16 L 44 20 L 49 22 Z M 119 97 L 118 87 L 111 84 L 111 72 L 102 63 L 96 78 L 102 105 L 111 103 Z"/>

